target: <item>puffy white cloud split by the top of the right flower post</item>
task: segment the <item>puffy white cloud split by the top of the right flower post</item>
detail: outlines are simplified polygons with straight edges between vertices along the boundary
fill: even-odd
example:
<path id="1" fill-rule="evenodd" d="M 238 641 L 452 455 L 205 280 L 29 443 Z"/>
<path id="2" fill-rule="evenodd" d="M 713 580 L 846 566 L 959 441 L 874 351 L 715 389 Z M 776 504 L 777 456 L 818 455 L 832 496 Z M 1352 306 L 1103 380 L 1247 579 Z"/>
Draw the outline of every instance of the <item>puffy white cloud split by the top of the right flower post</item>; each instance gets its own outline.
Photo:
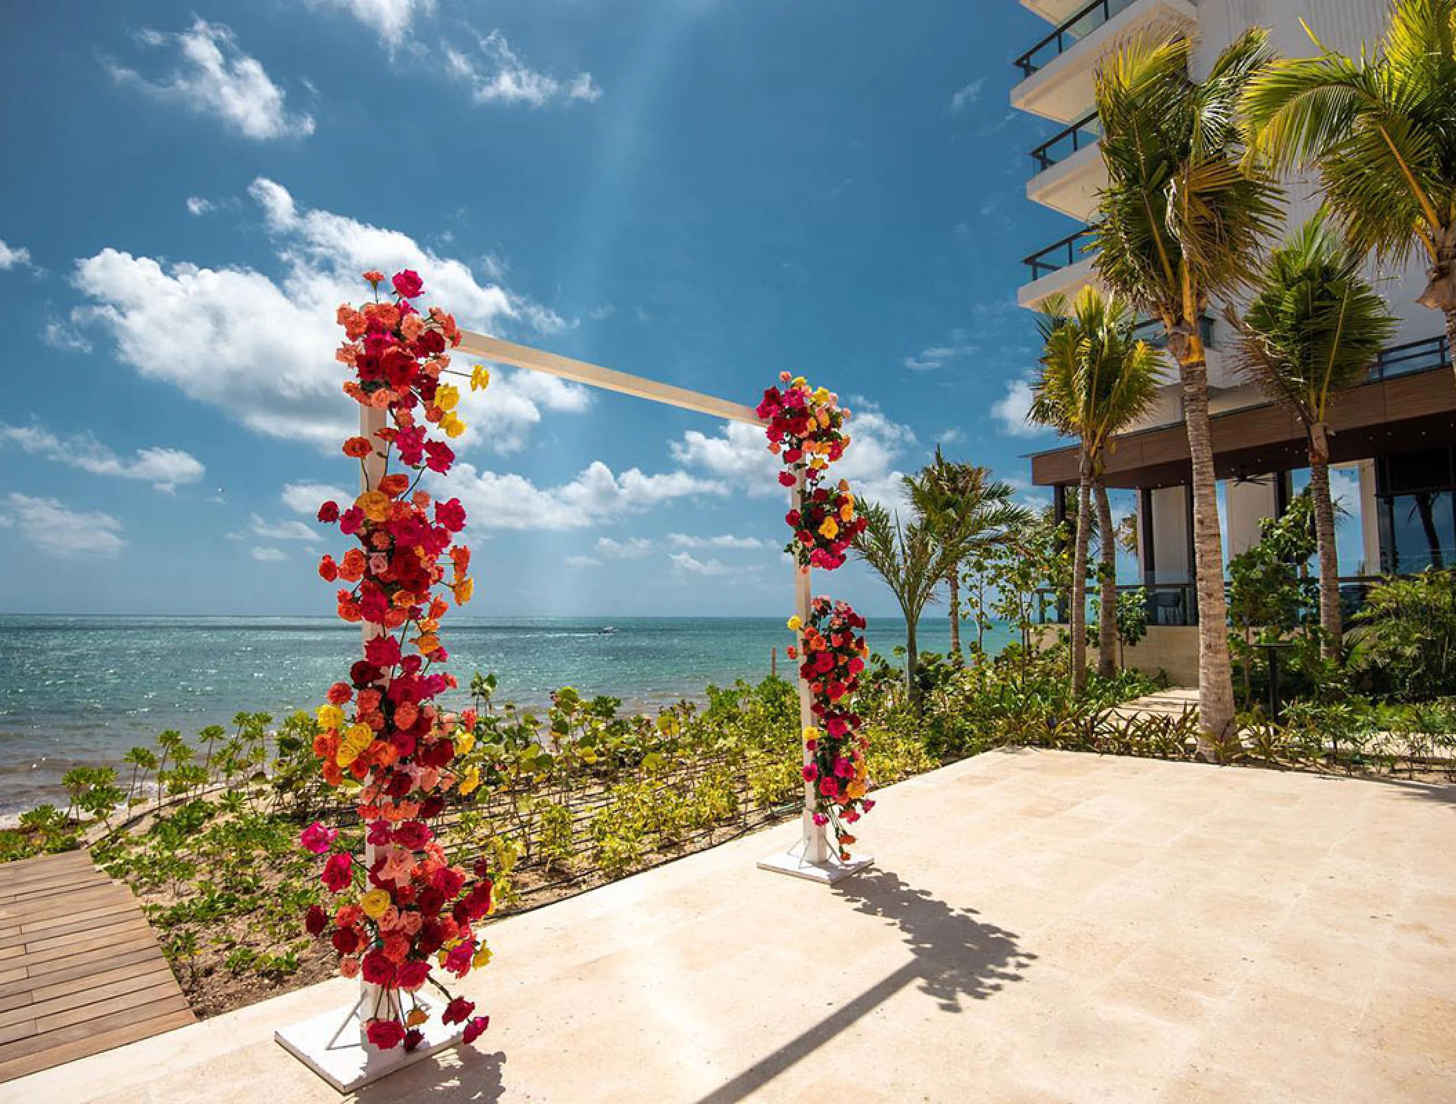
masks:
<path id="1" fill-rule="evenodd" d="M 879 498 L 887 488 L 898 485 L 897 459 L 914 444 L 914 433 L 885 415 L 866 399 L 852 399 L 849 421 L 850 446 L 834 465 L 834 475 L 849 479 L 855 494 Z M 767 498 L 782 495 L 779 457 L 767 450 L 763 430 L 747 422 L 724 422 L 712 437 L 689 430 L 671 446 L 673 457 L 684 466 L 705 469 L 713 476 L 729 479 L 748 495 Z"/>

